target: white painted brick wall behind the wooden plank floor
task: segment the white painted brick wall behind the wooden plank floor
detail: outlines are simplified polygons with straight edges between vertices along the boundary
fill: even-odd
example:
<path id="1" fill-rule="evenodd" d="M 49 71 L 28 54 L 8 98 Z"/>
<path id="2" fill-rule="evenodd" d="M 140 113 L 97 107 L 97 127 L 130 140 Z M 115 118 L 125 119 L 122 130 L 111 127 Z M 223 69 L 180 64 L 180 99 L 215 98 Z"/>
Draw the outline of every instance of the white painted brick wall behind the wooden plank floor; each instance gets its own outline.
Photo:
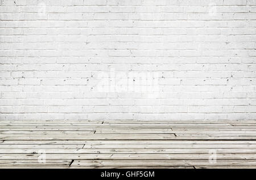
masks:
<path id="1" fill-rule="evenodd" d="M 2 0 L 0 120 L 256 119 L 255 0 Z"/>

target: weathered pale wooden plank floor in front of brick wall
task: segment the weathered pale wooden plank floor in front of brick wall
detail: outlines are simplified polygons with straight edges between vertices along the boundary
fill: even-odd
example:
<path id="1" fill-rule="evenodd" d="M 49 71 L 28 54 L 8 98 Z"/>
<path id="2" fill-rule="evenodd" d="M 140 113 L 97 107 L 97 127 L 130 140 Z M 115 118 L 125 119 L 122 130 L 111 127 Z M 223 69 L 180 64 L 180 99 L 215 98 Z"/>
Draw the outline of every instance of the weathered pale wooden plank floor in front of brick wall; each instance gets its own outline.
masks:
<path id="1" fill-rule="evenodd" d="M 256 120 L 0 121 L 0 168 L 256 168 Z"/>

